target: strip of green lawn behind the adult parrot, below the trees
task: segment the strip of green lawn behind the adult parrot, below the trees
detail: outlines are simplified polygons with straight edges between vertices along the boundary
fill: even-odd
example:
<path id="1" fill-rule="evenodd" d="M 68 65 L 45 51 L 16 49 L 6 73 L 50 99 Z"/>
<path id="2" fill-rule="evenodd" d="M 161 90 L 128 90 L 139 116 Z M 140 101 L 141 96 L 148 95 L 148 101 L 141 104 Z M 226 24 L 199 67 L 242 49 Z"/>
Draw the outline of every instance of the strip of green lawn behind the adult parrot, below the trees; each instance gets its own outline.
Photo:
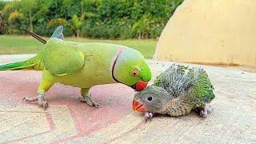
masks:
<path id="1" fill-rule="evenodd" d="M 45 38 L 46 39 L 46 38 Z M 73 42 L 104 42 L 114 43 L 134 48 L 145 56 L 145 58 L 152 58 L 156 41 L 147 40 L 102 40 L 102 39 L 88 39 L 88 38 L 65 38 L 67 41 Z M 0 54 L 37 54 L 44 48 L 44 45 L 34 38 L 29 36 L 17 35 L 0 35 Z"/>

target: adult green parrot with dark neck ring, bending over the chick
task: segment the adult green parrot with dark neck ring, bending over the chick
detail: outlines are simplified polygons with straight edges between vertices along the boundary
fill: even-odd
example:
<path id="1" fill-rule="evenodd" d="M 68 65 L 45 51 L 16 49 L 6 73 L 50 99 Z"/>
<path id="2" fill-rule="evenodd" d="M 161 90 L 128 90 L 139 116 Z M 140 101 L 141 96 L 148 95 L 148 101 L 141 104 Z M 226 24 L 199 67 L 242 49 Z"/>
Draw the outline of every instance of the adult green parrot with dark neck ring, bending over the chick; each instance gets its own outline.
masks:
<path id="1" fill-rule="evenodd" d="M 142 90 L 151 79 L 150 67 L 138 50 L 106 43 L 64 41 L 63 26 L 58 26 L 48 41 L 28 30 L 34 38 L 46 44 L 34 58 L 0 66 L 0 70 L 42 70 L 38 96 L 23 98 L 38 102 L 45 109 L 45 93 L 54 83 L 81 88 L 81 102 L 98 107 L 88 94 L 90 87 L 119 82 L 135 90 Z"/>

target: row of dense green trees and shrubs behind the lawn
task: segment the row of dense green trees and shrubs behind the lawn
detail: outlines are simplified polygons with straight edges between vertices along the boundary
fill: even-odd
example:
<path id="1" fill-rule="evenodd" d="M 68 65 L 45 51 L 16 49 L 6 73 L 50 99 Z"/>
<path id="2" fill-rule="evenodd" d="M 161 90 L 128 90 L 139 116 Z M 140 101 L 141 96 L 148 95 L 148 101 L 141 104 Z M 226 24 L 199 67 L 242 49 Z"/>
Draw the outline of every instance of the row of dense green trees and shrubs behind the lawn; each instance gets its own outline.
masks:
<path id="1" fill-rule="evenodd" d="M 62 24 L 66 25 L 67 36 L 158 38 L 182 1 L 0 0 L 0 10 L 9 32 L 15 34 L 20 34 L 21 27 L 30 27 L 31 31 L 49 36 Z"/>

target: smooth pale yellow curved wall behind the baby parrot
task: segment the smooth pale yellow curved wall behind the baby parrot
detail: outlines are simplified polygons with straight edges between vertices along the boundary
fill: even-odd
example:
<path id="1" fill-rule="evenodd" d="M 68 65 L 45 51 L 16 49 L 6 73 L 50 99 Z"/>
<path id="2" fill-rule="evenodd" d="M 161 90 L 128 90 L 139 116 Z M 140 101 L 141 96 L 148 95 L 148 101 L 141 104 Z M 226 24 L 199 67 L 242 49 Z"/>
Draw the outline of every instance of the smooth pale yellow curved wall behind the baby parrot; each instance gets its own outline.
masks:
<path id="1" fill-rule="evenodd" d="M 185 0 L 162 31 L 154 58 L 256 66 L 256 1 Z"/>

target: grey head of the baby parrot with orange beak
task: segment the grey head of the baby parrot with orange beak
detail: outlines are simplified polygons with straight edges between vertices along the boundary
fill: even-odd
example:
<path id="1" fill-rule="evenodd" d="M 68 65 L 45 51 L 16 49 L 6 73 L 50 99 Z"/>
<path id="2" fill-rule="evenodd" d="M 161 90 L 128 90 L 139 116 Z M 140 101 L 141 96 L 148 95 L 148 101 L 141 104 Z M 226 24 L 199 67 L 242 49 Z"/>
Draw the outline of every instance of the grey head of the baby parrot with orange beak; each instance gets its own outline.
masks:
<path id="1" fill-rule="evenodd" d="M 158 86 L 147 86 L 134 95 L 133 109 L 138 112 L 158 113 L 163 110 L 170 98 L 169 93 Z"/>

